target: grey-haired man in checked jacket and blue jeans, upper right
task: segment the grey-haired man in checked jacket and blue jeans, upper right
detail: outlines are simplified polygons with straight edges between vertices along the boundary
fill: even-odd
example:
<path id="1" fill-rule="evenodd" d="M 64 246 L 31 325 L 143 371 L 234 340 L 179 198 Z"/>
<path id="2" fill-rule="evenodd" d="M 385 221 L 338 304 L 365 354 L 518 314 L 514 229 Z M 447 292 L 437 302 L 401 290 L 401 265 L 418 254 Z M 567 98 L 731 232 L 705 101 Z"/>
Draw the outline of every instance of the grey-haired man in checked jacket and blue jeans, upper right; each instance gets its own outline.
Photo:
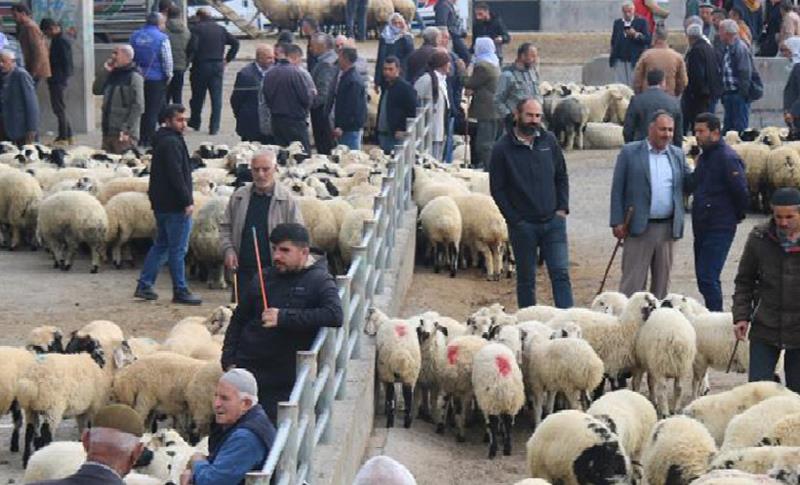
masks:
<path id="1" fill-rule="evenodd" d="M 750 90 L 755 68 L 747 45 L 739 39 L 739 26 L 733 20 L 720 24 L 720 39 L 725 46 L 720 59 L 722 72 L 723 129 L 744 131 L 750 126 Z"/>

